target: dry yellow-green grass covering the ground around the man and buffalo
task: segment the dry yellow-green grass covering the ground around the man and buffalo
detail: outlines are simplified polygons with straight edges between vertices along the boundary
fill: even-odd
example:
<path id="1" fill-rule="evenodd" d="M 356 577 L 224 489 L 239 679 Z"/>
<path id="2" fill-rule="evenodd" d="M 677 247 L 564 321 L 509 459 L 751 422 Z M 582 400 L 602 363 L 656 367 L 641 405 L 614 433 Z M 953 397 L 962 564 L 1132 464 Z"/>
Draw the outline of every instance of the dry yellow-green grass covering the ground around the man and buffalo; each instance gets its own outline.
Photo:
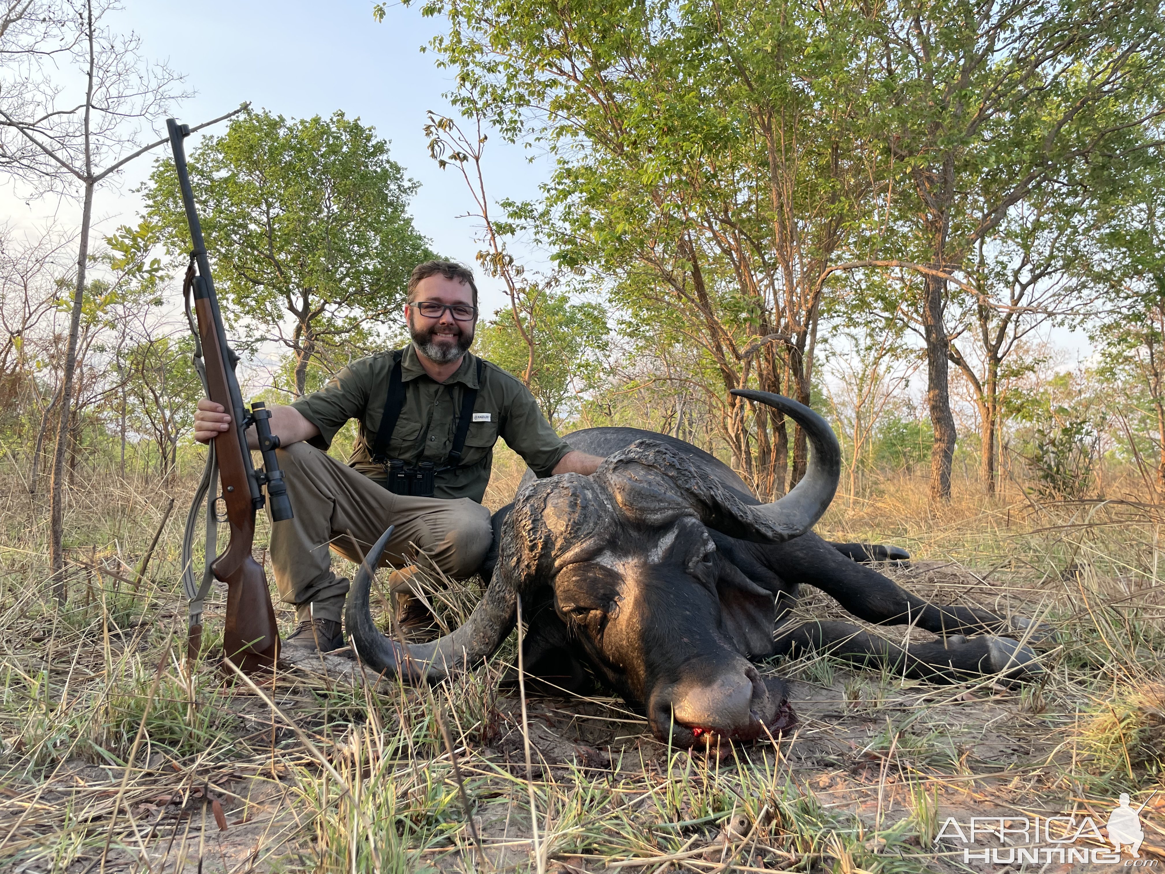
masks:
<path id="1" fill-rule="evenodd" d="M 510 467 L 500 459 L 489 502 L 516 485 Z M 181 513 L 140 590 L 126 582 L 165 495 L 112 479 L 75 489 L 78 564 L 58 606 L 43 507 L 16 480 L 0 486 L 6 869 L 965 869 L 961 853 L 933 844 L 946 817 L 1088 811 L 1102 823 L 1120 791 L 1149 801 L 1142 854 L 1165 852 L 1165 799 L 1151 795 L 1165 731 L 1152 507 L 963 489 L 932 513 L 925 484 L 909 480 L 840 503 L 821 530 L 906 545 L 919 561 L 890 572 L 919 594 L 1052 622 L 1046 678 L 932 686 L 828 657 L 776 663 L 767 670 L 796 681 L 796 735 L 718 759 L 656 742 L 614 698 L 530 698 L 523 720 L 502 682 L 513 641 L 431 689 L 282 674 L 259 695 L 216 670 L 213 639 L 188 675 Z M 450 615 L 474 597 L 460 587 Z M 216 593 L 211 629 L 223 606 Z M 804 609 L 840 614 L 820 595 Z"/>

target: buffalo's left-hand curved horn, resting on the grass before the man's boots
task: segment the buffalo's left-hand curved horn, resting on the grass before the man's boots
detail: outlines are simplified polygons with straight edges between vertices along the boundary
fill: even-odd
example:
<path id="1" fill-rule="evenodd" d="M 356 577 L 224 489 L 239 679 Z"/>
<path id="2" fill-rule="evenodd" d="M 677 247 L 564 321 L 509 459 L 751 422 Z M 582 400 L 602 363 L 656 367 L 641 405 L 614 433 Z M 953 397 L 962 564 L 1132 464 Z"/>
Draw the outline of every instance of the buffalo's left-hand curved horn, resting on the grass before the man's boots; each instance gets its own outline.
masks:
<path id="1" fill-rule="evenodd" d="M 444 637 L 430 643 L 398 643 L 380 633 L 372 619 L 369 604 L 372 569 L 380 563 L 391 534 L 393 528 L 389 527 L 360 563 L 348 597 L 348 634 L 365 664 L 410 682 L 439 681 L 497 649 L 514 627 L 515 592 L 513 586 L 499 580 L 501 575 L 496 572 L 465 625 Z"/>

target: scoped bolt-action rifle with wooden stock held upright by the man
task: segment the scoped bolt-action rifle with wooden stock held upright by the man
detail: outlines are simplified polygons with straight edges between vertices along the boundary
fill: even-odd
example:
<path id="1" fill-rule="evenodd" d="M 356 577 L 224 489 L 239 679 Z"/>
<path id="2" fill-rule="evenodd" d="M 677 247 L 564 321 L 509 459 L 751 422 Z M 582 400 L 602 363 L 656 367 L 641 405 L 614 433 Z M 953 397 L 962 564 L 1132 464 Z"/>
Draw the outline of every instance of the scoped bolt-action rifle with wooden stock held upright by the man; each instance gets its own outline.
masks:
<path id="1" fill-rule="evenodd" d="M 195 196 L 190 188 L 190 174 L 186 170 L 186 154 L 183 140 L 190 135 L 188 125 L 179 125 L 174 119 L 167 119 L 170 132 L 170 146 L 174 148 L 174 165 L 178 171 L 178 185 L 182 189 L 182 203 L 186 209 L 186 223 L 190 226 L 190 239 L 193 244 L 190 253 L 190 267 L 183 295 L 186 299 L 189 317 L 190 297 L 193 296 L 193 310 L 198 320 L 197 343 L 200 347 L 204 383 L 206 394 L 214 403 L 219 403 L 231 415 L 231 428 L 213 439 L 212 460 L 207 471 L 213 471 L 217 461 L 221 499 L 226 505 L 226 521 L 230 526 L 230 541 L 226 549 L 213 563 L 210 572 L 214 578 L 227 585 L 226 627 L 223 634 L 223 651 L 246 672 L 270 670 L 278 657 L 280 635 L 275 623 L 275 609 L 271 595 L 267 588 L 267 577 L 263 569 L 252 556 L 255 538 L 255 513 L 262 509 L 263 489 L 271 501 L 271 519 L 282 521 L 291 519 L 291 502 L 288 500 L 283 473 L 275 458 L 280 445 L 278 437 L 271 435 L 268 420 L 270 411 L 260 401 L 250 404 L 248 410 L 242 403 L 239 392 L 239 380 L 235 378 L 235 365 L 239 357 L 227 345 L 226 331 L 223 326 L 223 315 L 219 312 L 218 297 L 214 294 L 214 281 L 211 279 L 211 266 L 206 258 L 206 244 L 203 241 L 202 225 L 195 210 Z M 196 350 L 197 366 L 197 350 Z M 263 470 L 256 471 L 247 447 L 247 429 L 255 425 L 259 449 L 263 457 Z M 213 479 L 211 477 L 210 479 Z M 206 480 L 204 480 L 204 484 Z M 210 488 L 216 484 L 211 481 Z M 213 493 L 212 493 L 213 495 Z M 197 515 L 200 498 L 196 496 L 191 508 L 191 521 Z M 216 501 L 207 503 L 207 515 L 213 515 Z M 207 528 L 213 530 L 214 520 L 207 519 Z M 188 523 L 188 531 L 192 524 Z M 188 538 L 189 540 L 189 538 Z M 207 544 L 213 550 L 213 534 L 207 537 Z M 188 551 L 184 549 L 184 551 Z M 209 558 L 209 556 L 207 556 Z M 209 583 L 209 579 L 206 580 Z M 191 597 L 191 620 L 189 651 L 196 656 L 202 641 L 202 595 L 207 586 L 196 597 Z"/>

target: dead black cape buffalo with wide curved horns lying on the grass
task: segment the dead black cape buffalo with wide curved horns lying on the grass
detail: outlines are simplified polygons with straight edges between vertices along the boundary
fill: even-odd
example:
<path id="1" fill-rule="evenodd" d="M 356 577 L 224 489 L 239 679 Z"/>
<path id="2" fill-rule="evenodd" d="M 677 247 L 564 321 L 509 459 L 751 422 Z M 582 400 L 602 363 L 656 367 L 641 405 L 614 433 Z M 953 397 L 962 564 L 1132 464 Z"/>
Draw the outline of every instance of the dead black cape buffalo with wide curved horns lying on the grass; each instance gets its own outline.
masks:
<path id="1" fill-rule="evenodd" d="M 440 640 L 402 646 L 376 628 L 367 568 L 379 562 L 386 538 L 373 547 L 347 608 L 361 658 L 412 681 L 445 677 L 497 649 L 520 599 L 531 676 L 566 689 L 598 679 L 645 712 L 657 738 L 670 734 L 680 745 L 789 728 L 795 717 L 785 683 L 762 676 L 753 662 L 798 649 L 824 648 L 938 682 L 1039 671 L 1031 649 L 997 636 L 1022 632 L 1028 620 L 929 604 L 853 561 L 862 557 L 859 544 L 810 533 L 838 485 L 833 431 L 786 397 L 735 394 L 775 407 L 809 436 L 809 471 L 784 498 L 761 503 L 727 465 L 673 437 L 631 428 L 578 431 L 571 445 L 606 460 L 591 477 L 523 480 L 513 505 L 494 515 L 496 559 L 485 597 Z M 788 621 L 802 584 L 867 622 L 913 623 L 941 636 L 908 650 L 846 622 Z"/>

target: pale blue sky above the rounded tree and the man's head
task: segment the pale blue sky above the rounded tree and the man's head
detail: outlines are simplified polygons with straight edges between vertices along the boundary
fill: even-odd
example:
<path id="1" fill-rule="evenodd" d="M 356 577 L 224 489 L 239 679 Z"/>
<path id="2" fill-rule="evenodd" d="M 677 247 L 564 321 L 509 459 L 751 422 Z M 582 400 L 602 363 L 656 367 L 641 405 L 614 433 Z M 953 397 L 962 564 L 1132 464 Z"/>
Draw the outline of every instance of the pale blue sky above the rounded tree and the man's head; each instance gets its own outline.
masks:
<path id="1" fill-rule="evenodd" d="M 451 87 L 451 75 L 437 69 L 433 55 L 419 50 L 438 33 L 442 19 L 396 5 L 377 24 L 372 0 L 125 0 L 125 6 L 112 21 L 136 31 L 143 54 L 168 59 L 197 92 L 177 108 L 179 120 L 195 125 L 243 100 L 295 118 L 336 110 L 360 117 L 391 141 L 393 157 L 421 182 L 412 202 L 417 228 L 437 252 L 473 263 L 479 248 L 474 221 L 457 218 L 471 204 L 465 183 L 429 157 L 422 133 L 426 110 L 452 112 L 442 97 Z M 492 138 L 487 162 L 490 199 L 537 193 L 544 170 L 528 164 L 522 149 Z M 129 191 L 149 167 L 149 158 L 139 160 L 120 185 L 99 191 L 99 231 L 133 219 L 137 203 Z M 20 221 L 51 213 L 64 226 L 79 221 L 72 203 L 26 206 L 7 191 L 0 209 Z M 494 283 L 481 284 L 483 309 L 501 305 Z"/>

